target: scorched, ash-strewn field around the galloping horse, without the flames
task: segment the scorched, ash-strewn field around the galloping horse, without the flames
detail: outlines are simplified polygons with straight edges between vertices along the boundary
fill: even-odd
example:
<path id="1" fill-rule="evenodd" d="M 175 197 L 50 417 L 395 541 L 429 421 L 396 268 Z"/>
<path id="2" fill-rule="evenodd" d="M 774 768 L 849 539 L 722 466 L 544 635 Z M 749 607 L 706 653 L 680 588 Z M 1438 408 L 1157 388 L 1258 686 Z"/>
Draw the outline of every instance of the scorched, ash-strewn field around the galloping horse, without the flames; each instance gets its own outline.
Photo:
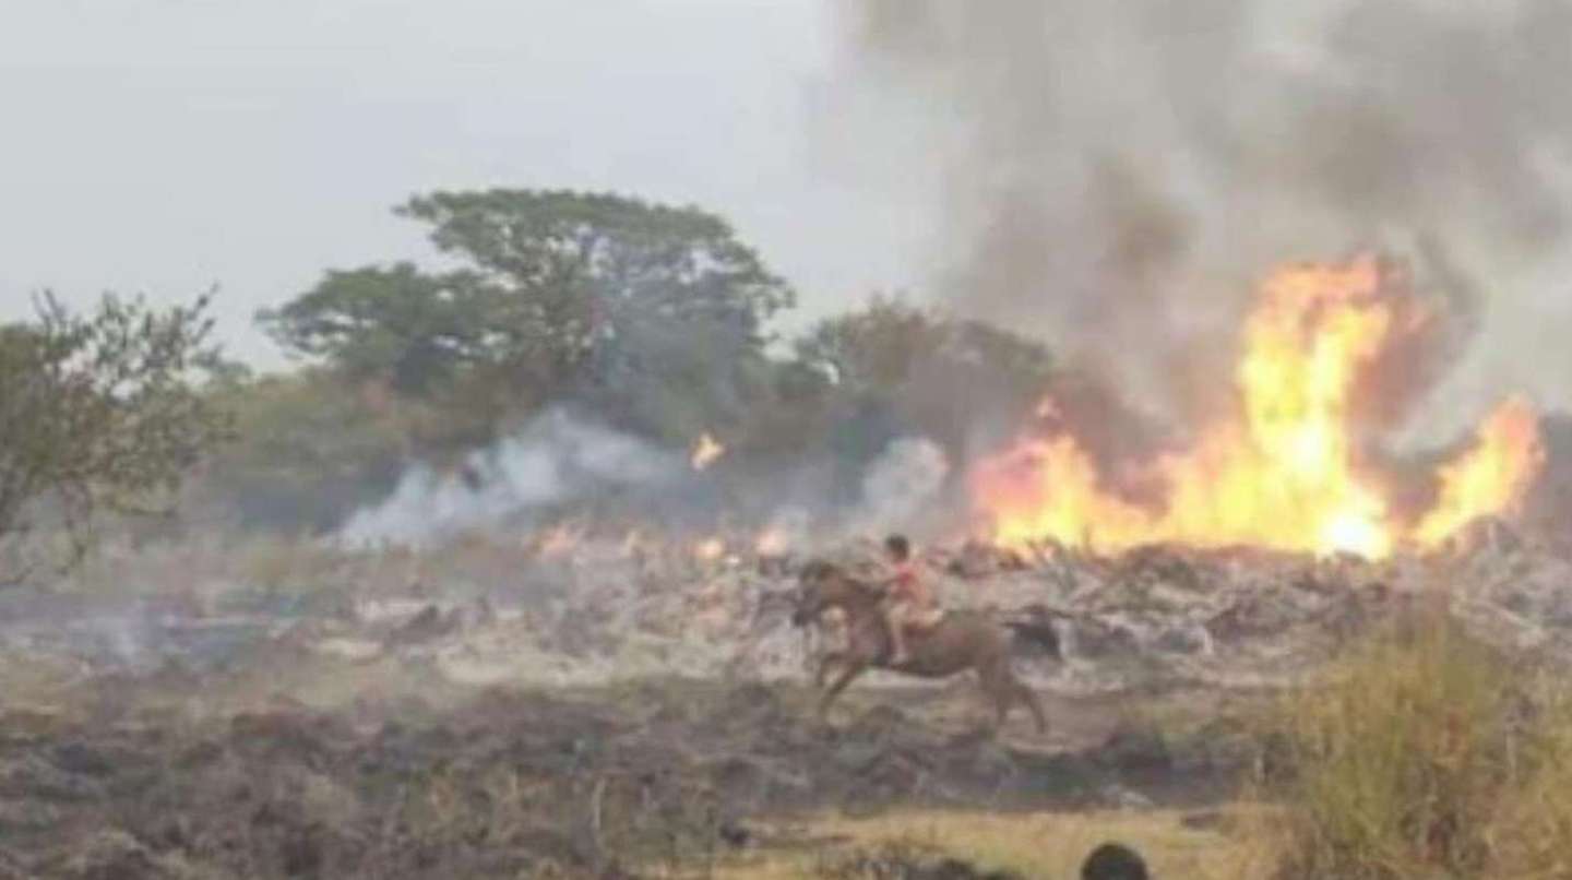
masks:
<path id="1" fill-rule="evenodd" d="M 1060 877 L 1115 838 L 1259 875 L 1253 713 L 1438 570 L 929 559 L 1049 633 L 1016 663 L 1050 731 L 992 735 L 968 679 L 817 723 L 789 567 L 443 553 L 165 548 L 0 597 L 0 877 Z M 1479 632 L 1572 643 L 1564 564 L 1448 566 Z"/>

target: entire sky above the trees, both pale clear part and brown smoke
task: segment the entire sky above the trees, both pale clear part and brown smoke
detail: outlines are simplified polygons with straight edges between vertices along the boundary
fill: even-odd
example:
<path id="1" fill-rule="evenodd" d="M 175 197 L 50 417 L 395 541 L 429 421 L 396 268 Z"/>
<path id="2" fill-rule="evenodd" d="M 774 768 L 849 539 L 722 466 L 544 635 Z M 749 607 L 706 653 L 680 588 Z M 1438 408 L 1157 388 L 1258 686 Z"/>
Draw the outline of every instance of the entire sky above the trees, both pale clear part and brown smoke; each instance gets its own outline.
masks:
<path id="1" fill-rule="evenodd" d="M 1552 0 L 6 0 L 0 319 L 217 284 L 277 365 L 258 308 L 431 256 L 410 193 L 571 187 L 729 217 L 797 322 L 907 288 L 1181 404 L 1265 266 L 1438 255 L 1449 399 L 1572 402 L 1569 47 Z"/>

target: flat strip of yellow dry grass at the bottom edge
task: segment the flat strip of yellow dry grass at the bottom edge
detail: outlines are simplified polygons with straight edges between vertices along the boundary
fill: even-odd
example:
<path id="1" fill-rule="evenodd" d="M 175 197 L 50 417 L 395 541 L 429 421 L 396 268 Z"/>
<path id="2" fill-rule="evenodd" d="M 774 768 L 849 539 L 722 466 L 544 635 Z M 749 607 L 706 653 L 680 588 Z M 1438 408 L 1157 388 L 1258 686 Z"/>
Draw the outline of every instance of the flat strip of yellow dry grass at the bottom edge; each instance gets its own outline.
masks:
<path id="1" fill-rule="evenodd" d="M 877 817 L 821 817 L 797 831 L 835 844 L 803 850 L 764 852 L 722 866 L 715 877 L 786 880 L 822 877 L 849 852 L 910 850 L 943 853 L 984 871 L 1023 877 L 1077 877 L 1080 863 L 1105 841 L 1122 841 L 1146 856 L 1155 877 L 1234 880 L 1262 877 L 1272 864 L 1239 830 L 1253 827 L 1239 806 L 1204 828 L 1187 827 L 1177 811 L 1149 812 L 976 812 L 896 811 Z"/>

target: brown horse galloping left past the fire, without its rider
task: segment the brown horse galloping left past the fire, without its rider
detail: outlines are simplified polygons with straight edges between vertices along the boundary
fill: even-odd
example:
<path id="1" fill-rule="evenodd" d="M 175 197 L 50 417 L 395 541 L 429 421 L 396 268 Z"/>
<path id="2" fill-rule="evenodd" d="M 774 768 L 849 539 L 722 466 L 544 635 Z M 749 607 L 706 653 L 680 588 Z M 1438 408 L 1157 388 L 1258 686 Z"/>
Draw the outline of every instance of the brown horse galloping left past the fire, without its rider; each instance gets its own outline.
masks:
<path id="1" fill-rule="evenodd" d="M 814 679 L 817 687 L 824 688 L 830 668 L 841 666 L 839 676 L 819 698 L 821 720 L 828 715 L 830 704 L 846 685 L 868 669 L 888 669 L 923 679 L 946 679 L 976 669 L 984 693 L 994 701 L 995 726 L 1005 723 L 1014 704 L 1025 702 L 1038 721 L 1038 732 L 1047 729 L 1049 723 L 1038 695 L 1031 693 L 1031 688 L 1009 668 L 1009 633 L 987 616 L 976 611 L 948 611 L 932 627 L 912 633 L 910 660 L 891 665 L 890 633 L 880 610 L 883 592 L 879 588 L 855 580 L 822 559 L 803 566 L 800 581 L 802 591 L 797 596 L 797 610 L 792 613 L 795 625 L 814 622 L 830 608 L 839 608 L 846 614 L 846 651 L 825 654 Z"/>

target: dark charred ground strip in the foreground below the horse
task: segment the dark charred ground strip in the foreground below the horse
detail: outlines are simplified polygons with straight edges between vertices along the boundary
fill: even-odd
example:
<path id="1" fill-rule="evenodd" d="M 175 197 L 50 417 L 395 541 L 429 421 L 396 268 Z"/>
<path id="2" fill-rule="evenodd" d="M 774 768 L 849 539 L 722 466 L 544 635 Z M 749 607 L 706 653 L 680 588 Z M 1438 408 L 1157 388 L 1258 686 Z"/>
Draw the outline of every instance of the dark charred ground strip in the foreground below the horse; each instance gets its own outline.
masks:
<path id="1" fill-rule="evenodd" d="M 1050 735 L 992 737 L 959 684 L 854 688 L 830 726 L 791 684 L 192 710 L 215 687 L 104 676 L 74 709 L 0 712 L 0 877 L 670 875 L 827 809 L 1218 803 L 1245 761 L 1226 723 L 1165 734 L 1127 698 L 1050 698 Z"/>

